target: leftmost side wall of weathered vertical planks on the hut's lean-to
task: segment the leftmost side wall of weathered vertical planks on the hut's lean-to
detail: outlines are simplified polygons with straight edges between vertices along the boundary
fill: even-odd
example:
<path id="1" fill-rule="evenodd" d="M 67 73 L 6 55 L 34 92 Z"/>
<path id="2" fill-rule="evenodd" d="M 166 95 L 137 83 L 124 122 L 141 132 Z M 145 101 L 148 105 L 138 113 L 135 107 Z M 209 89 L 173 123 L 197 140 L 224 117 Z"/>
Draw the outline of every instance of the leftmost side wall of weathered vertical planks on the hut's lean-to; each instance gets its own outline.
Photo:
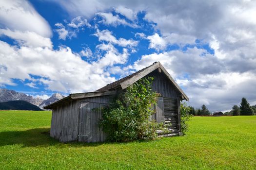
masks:
<path id="1" fill-rule="evenodd" d="M 74 100 L 53 109 L 50 136 L 61 142 L 78 140 L 79 104 Z"/>

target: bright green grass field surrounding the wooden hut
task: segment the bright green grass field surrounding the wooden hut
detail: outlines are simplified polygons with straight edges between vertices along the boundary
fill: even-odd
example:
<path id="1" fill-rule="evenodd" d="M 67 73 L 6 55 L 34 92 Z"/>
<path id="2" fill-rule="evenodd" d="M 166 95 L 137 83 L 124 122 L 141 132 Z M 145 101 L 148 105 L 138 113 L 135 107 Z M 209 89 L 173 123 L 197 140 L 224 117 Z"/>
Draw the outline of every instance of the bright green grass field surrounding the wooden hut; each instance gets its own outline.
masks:
<path id="1" fill-rule="evenodd" d="M 256 116 L 195 117 L 186 136 L 59 143 L 51 112 L 0 111 L 0 169 L 256 169 Z"/>

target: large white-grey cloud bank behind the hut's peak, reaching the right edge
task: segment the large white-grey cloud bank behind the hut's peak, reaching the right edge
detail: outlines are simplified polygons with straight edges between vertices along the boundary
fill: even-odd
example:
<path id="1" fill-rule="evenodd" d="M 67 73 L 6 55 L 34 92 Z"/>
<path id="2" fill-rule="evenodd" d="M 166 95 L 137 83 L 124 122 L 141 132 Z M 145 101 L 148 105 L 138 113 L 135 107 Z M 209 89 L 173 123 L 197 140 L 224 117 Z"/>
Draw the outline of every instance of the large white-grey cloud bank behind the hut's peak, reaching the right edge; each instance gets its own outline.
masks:
<path id="1" fill-rule="evenodd" d="M 202 55 L 203 54 L 203 55 Z M 190 105 L 206 104 L 211 111 L 228 110 L 242 97 L 255 102 L 253 72 L 230 72 L 225 60 L 203 49 L 169 51 L 143 55 L 133 65 L 135 70 L 160 61 L 190 98 Z M 188 64 L 189 63 L 189 64 Z"/>

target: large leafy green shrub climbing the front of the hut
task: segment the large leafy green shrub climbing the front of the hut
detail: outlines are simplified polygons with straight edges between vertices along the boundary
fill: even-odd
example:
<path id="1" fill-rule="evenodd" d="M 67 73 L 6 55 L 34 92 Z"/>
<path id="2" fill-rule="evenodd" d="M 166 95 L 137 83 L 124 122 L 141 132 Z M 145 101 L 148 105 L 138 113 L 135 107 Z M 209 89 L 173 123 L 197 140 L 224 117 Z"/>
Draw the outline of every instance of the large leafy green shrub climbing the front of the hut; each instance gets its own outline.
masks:
<path id="1" fill-rule="evenodd" d="M 130 85 L 109 106 L 102 109 L 102 120 L 99 124 L 108 134 L 111 141 L 131 141 L 136 139 L 153 139 L 156 130 L 163 124 L 151 120 L 156 110 L 158 94 L 152 90 L 153 78 L 143 78 Z"/>

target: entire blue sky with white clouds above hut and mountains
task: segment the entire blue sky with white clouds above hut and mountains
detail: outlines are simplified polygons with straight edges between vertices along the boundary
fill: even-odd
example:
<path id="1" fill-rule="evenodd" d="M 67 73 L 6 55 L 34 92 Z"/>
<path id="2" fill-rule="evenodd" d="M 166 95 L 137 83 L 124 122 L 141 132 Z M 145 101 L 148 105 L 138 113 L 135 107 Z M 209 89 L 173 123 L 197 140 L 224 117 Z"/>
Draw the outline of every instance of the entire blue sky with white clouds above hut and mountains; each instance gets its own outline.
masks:
<path id="1" fill-rule="evenodd" d="M 256 2 L 3 0 L 0 87 L 94 91 L 155 61 L 211 111 L 256 103 Z"/>

